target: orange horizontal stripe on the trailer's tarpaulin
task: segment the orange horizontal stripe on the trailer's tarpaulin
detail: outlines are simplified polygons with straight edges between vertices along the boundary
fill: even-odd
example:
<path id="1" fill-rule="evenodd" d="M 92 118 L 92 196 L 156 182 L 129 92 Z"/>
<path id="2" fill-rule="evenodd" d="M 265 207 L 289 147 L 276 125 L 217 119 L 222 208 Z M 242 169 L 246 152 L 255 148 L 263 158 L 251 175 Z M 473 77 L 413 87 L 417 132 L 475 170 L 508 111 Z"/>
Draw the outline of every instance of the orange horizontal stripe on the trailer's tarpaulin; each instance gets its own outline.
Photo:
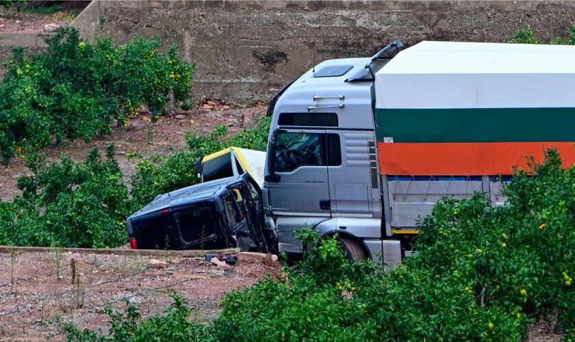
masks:
<path id="1" fill-rule="evenodd" d="M 575 163 L 574 142 L 379 142 L 379 168 L 398 176 L 509 175 L 513 166 L 528 170 L 528 156 L 543 161 L 548 148 L 557 148 L 564 166 Z"/>

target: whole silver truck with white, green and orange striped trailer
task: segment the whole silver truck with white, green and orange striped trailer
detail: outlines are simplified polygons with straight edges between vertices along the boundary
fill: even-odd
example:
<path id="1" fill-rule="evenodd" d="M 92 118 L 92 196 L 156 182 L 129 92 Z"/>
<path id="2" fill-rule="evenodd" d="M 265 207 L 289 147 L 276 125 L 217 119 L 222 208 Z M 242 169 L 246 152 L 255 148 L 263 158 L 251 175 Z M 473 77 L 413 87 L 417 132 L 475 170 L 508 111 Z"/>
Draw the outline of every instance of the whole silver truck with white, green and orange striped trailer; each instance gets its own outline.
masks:
<path id="1" fill-rule="evenodd" d="M 574 163 L 574 88 L 568 46 L 397 41 L 322 62 L 270 101 L 266 226 L 280 252 L 301 254 L 294 231 L 309 226 L 394 267 L 438 200 L 502 205 L 526 156 Z"/>

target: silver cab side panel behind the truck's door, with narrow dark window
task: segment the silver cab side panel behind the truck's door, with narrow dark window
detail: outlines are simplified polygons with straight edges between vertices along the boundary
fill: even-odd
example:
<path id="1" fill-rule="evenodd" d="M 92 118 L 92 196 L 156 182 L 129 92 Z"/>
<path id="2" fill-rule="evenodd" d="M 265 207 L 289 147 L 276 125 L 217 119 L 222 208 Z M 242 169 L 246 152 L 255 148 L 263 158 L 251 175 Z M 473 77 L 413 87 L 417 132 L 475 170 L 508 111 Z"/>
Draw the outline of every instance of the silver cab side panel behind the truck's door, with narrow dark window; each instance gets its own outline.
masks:
<path id="1" fill-rule="evenodd" d="M 327 130 L 327 136 L 333 159 L 328 167 L 332 215 L 371 216 L 374 201 L 367 132 Z"/>

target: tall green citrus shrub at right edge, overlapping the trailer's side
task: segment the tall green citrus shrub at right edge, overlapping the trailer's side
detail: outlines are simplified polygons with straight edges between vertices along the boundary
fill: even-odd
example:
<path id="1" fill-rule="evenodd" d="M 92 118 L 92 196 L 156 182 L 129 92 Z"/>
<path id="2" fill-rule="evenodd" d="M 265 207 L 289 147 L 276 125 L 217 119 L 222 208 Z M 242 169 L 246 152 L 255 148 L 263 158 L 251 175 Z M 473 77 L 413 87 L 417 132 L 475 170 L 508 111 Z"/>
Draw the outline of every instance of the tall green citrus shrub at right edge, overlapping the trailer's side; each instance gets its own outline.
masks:
<path id="1" fill-rule="evenodd" d="M 482 303 L 533 317 L 559 310 L 560 323 L 574 328 L 575 168 L 562 168 L 554 150 L 533 168 L 535 179 L 518 172 L 505 188 L 504 207 L 478 197 L 437 205 L 418 260 L 443 274 L 465 266 L 466 286 Z"/>

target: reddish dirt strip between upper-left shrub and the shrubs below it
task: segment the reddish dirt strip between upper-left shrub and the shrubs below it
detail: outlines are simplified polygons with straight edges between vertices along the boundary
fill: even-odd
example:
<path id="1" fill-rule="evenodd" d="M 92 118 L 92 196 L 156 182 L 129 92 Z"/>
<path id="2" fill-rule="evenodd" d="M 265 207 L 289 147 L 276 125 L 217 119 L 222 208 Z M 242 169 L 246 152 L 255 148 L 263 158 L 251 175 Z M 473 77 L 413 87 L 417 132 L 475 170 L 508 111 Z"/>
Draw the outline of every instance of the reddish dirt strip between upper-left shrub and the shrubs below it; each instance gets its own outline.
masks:
<path id="1" fill-rule="evenodd" d="M 113 142 L 116 146 L 116 160 L 123 170 L 125 183 L 129 184 L 131 175 L 136 172 L 138 159 L 127 158 L 127 153 L 167 155 L 186 149 L 188 131 L 207 135 L 216 127 L 225 125 L 229 133 L 238 133 L 244 127 L 255 124 L 265 112 L 264 106 L 220 111 L 196 109 L 162 116 L 155 123 L 151 122 L 149 114 L 140 114 L 129 120 L 126 129 L 114 130 L 112 136 L 99 136 L 89 143 L 75 140 L 59 146 L 54 144 L 44 150 L 44 153 L 49 161 L 58 159 L 62 153 L 76 161 L 83 161 L 92 148 L 97 147 L 104 154 L 106 146 Z M 18 194 L 16 180 L 28 172 L 25 160 L 18 157 L 14 157 L 9 166 L 0 166 L 0 199 L 12 200 Z"/>

